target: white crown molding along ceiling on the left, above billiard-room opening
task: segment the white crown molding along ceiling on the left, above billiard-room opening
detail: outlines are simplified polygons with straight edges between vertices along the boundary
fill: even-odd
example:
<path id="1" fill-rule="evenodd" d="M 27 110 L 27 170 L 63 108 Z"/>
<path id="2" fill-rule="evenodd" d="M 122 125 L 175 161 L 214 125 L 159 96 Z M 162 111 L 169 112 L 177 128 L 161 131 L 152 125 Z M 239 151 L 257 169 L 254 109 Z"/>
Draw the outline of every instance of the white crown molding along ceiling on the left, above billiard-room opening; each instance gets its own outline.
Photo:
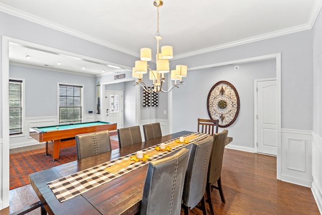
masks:
<path id="1" fill-rule="evenodd" d="M 2 11 L 4 13 L 7 13 L 7 14 L 10 14 L 10 15 L 13 15 L 13 16 L 16 16 L 16 17 L 19 17 L 19 18 L 22 18 L 22 19 L 25 19 L 25 20 L 28 20 L 28 21 L 33 22 L 33 23 L 37 23 L 39 25 L 42 25 L 42 26 L 45 26 L 45 27 L 48 27 L 48 28 L 52 28 L 54 30 L 57 30 L 57 31 L 60 31 L 60 32 L 63 32 L 63 33 L 66 33 L 66 34 L 69 34 L 69 35 L 84 39 L 84 40 L 88 40 L 88 41 L 103 45 L 105 47 L 108 47 L 108 48 L 111 48 L 111 49 L 114 49 L 114 50 L 129 54 L 129 55 L 132 55 L 132 56 L 135 56 L 135 57 L 139 56 L 138 53 L 133 52 L 133 51 L 131 51 L 129 49 L 123 48 L 123 47 L 115 45 L 113 43 L 109 43 L 109 42 L 107 42 L 105 40 L 90 36 L 88 34 L 84 34 L 82 32 L 76 31 L 74 29 L 67 28 L 67 27 L 62 26 L 62 25 L 58 25 L 57 23 L 54 23 L 54 22 L 51 22 L 49 20 L 34 16 L 32 14 L 29 14 L 29 13 L 26 13 L 24 11 L 18 10 L 16 8 L 4 5 L 2 3 L 0 3 L 0 11 Z"/>

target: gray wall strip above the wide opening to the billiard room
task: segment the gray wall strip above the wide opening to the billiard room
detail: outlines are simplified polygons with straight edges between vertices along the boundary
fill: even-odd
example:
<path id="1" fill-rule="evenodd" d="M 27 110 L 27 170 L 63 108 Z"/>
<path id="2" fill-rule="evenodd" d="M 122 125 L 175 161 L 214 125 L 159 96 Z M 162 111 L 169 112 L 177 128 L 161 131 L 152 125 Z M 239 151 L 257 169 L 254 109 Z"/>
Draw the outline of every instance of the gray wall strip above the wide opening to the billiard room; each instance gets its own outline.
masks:
<path id="1" fill-rule="evenodd" d="M 53 48 L 69 51 L 76 54 L 82 54 L 120 65 L 131 67 L 137 57 L 107 48 L 105 46 L 71 36 L 52 28 L 0 12 L 0 35 L 5 35 Z M 2 43 L 0 43 L 2 49 Z M 2 52 L 0 52 L 2 64 Z M 0 66 L 2 72 L 2 66 Z M 2 82 L 2 77 L 0 77 Z M 2 89 L 0 89 L 0 120 L 2 119 Z M 94 109 L 95 110 L 95 109 Z M 2 137 L 2 123 L 0 123 L 0 137 Z M 7 144 L 7 143 L 5 143 Z M 9 143 L 8 143 L 9 144 Z"/>

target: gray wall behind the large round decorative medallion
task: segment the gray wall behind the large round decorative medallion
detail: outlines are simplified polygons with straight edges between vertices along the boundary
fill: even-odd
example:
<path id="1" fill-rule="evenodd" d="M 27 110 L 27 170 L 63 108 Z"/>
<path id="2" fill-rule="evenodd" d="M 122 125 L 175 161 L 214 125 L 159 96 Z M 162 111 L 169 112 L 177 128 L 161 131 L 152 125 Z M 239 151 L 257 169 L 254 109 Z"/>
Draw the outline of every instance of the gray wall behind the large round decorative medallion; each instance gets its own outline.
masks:
<path id="1" fill-rule="evenodd" d="M 238 70 L 234 70 L 234 65 L 225 65 L 189 71 L 185 86 L 173 92 L 174 131 L 197 131 L 197 119 L 209 119 L 207 97 L 210 89 L 218 81 L 227 81 L 236 88 L 240 100 L 238 117 L 227 128 L 229 136 L 234 138 L 234 145 L 254 148 L 254 80 L 275 78 L 276 63 L 275 60 L 263 60 L 238 65 Z"/>

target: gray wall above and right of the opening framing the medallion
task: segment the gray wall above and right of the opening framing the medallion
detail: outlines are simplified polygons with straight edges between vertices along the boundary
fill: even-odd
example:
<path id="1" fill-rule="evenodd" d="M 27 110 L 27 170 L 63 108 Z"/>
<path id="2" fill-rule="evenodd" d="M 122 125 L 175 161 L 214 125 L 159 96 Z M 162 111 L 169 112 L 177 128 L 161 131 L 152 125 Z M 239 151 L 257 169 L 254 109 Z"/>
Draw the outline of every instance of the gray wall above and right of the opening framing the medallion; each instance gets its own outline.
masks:
<path id="1" fill-rule="evenodd" d="M 308 111 L 302 104 L 313 102 L 312 48 L 312 31 L 307 30 L 179 60 L 194 67 L 281 53 L 282 128 L 311 130 L 312 110 Z M 190 71 L 188 78 L 189 76 Z M 186 86 L 188 87 L 187 83 Z M 173 99 L 180 99 L 177 96 L 181 95 L 175 94 Z M 180 111 L 174 108 L 174 116 L 183 116 Z M 294 116 L 300 116 L 300 123 L 298 117 Z M 180 129 L 176 126 L 174 128 Z"/>

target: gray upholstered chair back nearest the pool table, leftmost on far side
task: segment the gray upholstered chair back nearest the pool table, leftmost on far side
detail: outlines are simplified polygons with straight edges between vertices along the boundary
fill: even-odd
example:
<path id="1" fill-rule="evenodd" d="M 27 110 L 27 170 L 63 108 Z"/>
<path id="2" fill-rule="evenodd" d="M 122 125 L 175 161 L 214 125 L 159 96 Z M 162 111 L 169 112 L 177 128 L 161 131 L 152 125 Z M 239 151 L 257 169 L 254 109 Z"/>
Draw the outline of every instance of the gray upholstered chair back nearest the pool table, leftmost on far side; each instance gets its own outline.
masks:
<path id="1" fill-rule="evenodd" d="M 77 160 L 109 151 L 111 139 L 108 130 L 76 135 Z"/>

